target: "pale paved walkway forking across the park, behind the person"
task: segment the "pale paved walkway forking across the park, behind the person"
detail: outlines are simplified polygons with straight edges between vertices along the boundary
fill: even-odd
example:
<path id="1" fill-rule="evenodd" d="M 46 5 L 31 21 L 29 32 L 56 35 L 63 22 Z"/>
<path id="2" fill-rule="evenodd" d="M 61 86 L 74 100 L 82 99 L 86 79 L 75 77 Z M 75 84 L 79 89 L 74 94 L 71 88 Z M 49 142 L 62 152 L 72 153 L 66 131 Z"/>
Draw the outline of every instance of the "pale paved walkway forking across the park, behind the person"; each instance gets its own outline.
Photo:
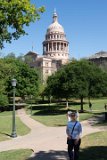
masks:
<path id="1" fill-rule="evenodd" d="M 0 152 L 11 149 L 31 148 L 34 150 L 29 160 L 65 160 L 67 159 L 66 127 L 46 127 L 33 120 L 23 109 L 18 110 L 18 116 L 30 129 L 25 136 L 0 142 Z M 82 122 L 83 136 L 105 130 L 105 127 L 93 127 L 88 121 Z"/>

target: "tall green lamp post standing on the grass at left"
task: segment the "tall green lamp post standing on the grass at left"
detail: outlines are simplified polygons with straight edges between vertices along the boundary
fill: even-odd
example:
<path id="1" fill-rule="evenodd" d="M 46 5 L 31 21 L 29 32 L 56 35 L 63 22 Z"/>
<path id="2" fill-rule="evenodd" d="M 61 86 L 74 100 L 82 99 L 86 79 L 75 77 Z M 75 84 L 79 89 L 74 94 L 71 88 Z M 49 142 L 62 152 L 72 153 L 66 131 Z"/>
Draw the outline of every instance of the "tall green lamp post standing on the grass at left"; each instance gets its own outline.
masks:
<path id="1" fill-rule="evenodd" d="M 16 122 L 15 122 L 15 87 L 16 87 L 16 79 L 11 80 L 12 87 L 13 87 L 13 118 L 12 118 L 12 134 L 11 137 L 15 138 L 17 137 L 16 134 Z"/>

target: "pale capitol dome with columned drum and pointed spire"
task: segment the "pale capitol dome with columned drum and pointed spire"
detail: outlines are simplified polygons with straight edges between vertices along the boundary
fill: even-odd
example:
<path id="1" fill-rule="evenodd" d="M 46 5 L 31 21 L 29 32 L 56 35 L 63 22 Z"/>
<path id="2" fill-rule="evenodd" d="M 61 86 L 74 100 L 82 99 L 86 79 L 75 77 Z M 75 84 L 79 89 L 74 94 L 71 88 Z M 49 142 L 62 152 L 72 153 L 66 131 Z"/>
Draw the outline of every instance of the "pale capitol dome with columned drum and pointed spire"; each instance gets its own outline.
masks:
<path id="1" fill-rule="evenodd" d="M 59 24 L 57 13 L 54 11 L 53 22 L 48 27 L 43 41 L 43 55 L 65 63 L 69 59 L 68 45 L 64 28 Z"/>

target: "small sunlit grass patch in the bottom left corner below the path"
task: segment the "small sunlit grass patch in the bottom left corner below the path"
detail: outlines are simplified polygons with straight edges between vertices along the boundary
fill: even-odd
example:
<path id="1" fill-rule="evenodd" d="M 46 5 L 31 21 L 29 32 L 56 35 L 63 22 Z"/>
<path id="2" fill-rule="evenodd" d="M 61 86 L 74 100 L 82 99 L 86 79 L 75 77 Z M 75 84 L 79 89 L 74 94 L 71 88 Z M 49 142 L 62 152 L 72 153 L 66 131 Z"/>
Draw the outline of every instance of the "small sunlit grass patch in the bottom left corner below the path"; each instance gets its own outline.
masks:
<path id="1" fill-rule="evenodd" d="M 1 160 L 25 160 L 31 155 L 32 151 L 29 149 L 10 150 L 0 152 Z"/>

